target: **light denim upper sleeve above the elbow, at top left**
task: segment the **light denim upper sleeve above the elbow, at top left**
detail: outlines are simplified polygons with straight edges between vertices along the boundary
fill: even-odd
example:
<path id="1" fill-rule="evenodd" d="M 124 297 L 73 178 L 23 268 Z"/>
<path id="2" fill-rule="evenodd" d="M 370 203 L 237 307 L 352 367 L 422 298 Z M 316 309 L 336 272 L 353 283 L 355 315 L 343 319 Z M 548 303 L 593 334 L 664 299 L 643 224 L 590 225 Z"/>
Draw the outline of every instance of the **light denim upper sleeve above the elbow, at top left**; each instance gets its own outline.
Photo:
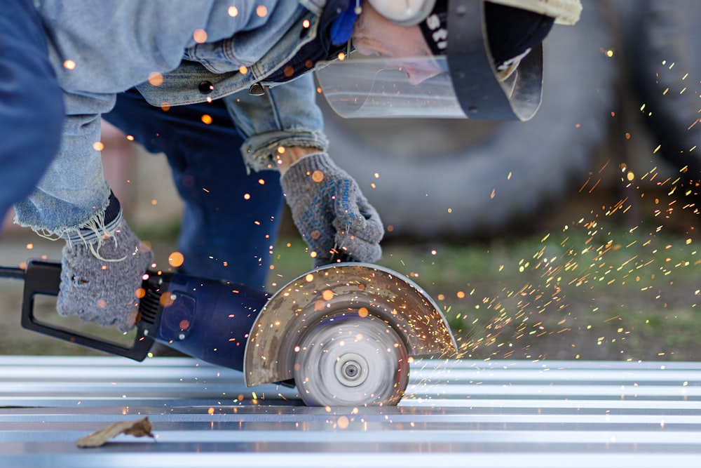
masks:
<path id="1" fill-rule="evenodd" d="M 268 20 L 281 14 L 278 10 L 290 15 L 297 7 L 296 1 L 281 0 L 34 3 L 46 27 L 49 56 L 62 88 L 93 93 L 126 91 L 147 81 L 153 72 L 175 69 L 185 49 L 198 41 L 215 44 L 247 30 L 265 30 Z M 64 66 L 67 62 L 72 65 Z"/>

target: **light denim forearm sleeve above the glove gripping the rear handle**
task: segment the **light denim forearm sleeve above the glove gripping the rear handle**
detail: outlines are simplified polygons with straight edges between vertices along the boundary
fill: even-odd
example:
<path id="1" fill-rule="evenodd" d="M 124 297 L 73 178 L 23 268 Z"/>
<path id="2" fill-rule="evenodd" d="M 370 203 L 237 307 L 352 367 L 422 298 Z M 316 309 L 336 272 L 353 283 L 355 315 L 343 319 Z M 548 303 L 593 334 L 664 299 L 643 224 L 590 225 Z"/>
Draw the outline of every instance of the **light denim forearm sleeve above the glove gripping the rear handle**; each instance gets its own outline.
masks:
<path id="1" fill-rule="evenodd" d="M 99 151 L 100 114 L 114 106 L 114 95 L 64 94 L 64 105 L 59 152 L 34 192 L 15 204 L 15 222 L 67 238 L 86 225 L 105 228 L 109 185 Z"/>

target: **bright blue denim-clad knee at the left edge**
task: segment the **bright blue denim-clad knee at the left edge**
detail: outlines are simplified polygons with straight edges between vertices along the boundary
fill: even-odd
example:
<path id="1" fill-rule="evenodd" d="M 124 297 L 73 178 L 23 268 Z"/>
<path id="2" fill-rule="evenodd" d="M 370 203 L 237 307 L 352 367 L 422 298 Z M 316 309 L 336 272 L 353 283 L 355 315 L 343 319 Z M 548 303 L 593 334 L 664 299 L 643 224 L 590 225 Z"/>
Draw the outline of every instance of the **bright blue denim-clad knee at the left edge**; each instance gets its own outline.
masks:
<path id="1" fill-rule="evenodd" d="M 29 0 L 0 1 L 0 220 L 58 152 L 63 98 Z"/>

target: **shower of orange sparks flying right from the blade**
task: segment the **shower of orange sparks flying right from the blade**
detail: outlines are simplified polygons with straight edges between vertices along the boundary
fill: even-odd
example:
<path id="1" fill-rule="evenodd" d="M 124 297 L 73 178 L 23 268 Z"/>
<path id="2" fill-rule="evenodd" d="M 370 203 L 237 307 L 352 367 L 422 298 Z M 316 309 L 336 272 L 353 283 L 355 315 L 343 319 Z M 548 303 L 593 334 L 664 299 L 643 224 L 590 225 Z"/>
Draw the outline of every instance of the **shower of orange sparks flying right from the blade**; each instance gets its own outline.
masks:
<path id="1" fill-rule="evenodd" d="M 480 285 L 480 289 L 489 290 L 484 295 L 475 294 L 475 289 L 469 295 L 463 290 L 454 293 L 461 312 L 456 313 L 452 304 L 444 307 L 444 313 L 450 312 L 449 319 L 461 323 L 455 330 L 461 357 L 545 359 L 553 357 L 547 354 L 549 340 L 571 340 L 571 354 L 554 357 L 595 359 L 595 348 L 601 347 L 609 352 L 619 350 L 621 359 L 650 359 L 651 354 L 637 356 L 627 351 L 627 340 L 644 340 L 638 335 L 651 333 L 653 319 L 641 320 L 641 316 L 658 311 L 660 318 L 653 321 L 686 320 L 681 316 L 683 312 L 665 312 L 669 302 L 679 301 L 672 297 L 679 293 L 667 293 L 665 288 L 680 288 L 682 285 L 675 285 L 674 278 L 688 276 L 688 314 L 695 314 L 701 300 L 699 288 L 693 284 L 701 271 L 698 232 L 693 222 L 684 228 L 686 235 L 681 239 L 664 236 L 665 224 L 674 222 L 673 214 L 697 217 L 698 208 L 671 196 L 679 189 L 679 179 L 656 178 L 661 179 L 657 168 L 637 176 L 622 167 L 620 182 L 639 192 L 636 199 L 646 199 L 645 191 L 650 187 L 667 191 L 665 199 L 659 194 L 647 197 L 652 199 L 651 213 L 647 214 L 653 220 L 664 218 L 660 224 L 646 227 L 641 223 L 620 229 L 620 225 L 630 225 L 631 208 L 639 212 L 644 209 L 637 200 L 622 199 L 612 206 L 591 210 L 561 232 L 546 234 L 528 257 L 499 266 L 498 274 L 524 276 L 522 286 L 499 289 L 497 283 L 492 285 L 497 286 L 494 290 Z M 625 299 L 612 302 L 619 296 L 611 294 L 611 288 L 628 291 Z M 449 295 L 440 293 L 436 297 L 444 303 Z M 462 305 L 465 299 L 472 305 Z M 645 326 L 648 329 L 641 330 Z M 664 349 L 650 349 L 650 353 L 658 357 L 674 355 L 674 351 Z"/>

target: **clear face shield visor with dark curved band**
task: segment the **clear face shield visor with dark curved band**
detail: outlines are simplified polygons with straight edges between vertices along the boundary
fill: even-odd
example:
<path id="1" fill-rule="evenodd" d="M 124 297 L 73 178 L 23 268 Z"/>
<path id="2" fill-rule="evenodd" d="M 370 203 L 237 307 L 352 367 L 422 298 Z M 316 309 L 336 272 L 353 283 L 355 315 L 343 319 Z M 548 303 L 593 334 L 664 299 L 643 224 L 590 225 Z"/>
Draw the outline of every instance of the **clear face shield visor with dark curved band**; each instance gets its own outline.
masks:
<path id="1" fill-rule="evenodd" d="M 369 58 L 358 53 L 318 69 L 322 93 L 345 118 L 519 119 L 540 106 L 542 46 L 498 71 L 486 46 L 482 1 L 451 1 L 445 55 Z"/>

